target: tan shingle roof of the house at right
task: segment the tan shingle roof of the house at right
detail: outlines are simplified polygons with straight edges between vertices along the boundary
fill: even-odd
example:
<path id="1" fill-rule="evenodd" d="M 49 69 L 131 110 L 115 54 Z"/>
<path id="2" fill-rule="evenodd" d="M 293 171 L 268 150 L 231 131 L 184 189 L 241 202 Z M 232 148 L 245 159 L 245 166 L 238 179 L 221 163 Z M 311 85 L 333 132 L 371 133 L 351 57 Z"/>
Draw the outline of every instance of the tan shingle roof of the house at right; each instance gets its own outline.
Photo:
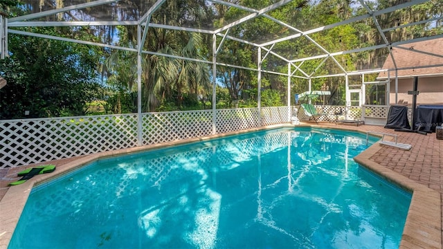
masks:
<path id="1" fill-rule="evenodd" d="M 397 68 L 410 68 L 398 71 L 398 77 L 413 77 L 425 75 L 443 75 L 443 38 L 431 39 L 422 42 L 413 42 L 392 47 Z M 440 65 L 440 66 L 434 66 Z M 426 68 L 417 68 L 427 66 Z M 414 68 L 415 67 L 415 68 Z M 395 68 L 392 57 L 388 55 L 383 69 Z M 386 79 L 388 72 L 379 73 L 379 79 Z M 395 72 L 390 72 L 395 77 Z"/>

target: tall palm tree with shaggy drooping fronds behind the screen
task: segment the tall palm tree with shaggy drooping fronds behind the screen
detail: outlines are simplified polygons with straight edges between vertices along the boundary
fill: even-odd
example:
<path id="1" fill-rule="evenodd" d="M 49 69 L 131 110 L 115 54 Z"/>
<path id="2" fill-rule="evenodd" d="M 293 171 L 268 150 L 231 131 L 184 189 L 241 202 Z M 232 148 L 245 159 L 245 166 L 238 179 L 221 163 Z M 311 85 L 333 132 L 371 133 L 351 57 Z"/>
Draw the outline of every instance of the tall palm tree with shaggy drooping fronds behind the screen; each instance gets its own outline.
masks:
<path id="1" fill-rule="evenodd" d="M 155 23 L 166 25 L 179 25 L 183 21 L 195 19 L 197 26 L 208 21 L 208 11 L 201 11 L 204 1 L 168 1 L 154 15 L 151 20 Z M 119 42 L 124 46 L 136 47 L 136 30 L 123 27 L 119 30 Z M 210 86 L 209 68 L 201 62 L 190 62 L 177 57 L 191 57 L 205 59 L 208 57 L 206 39 L 198 33 L 188 33 L 180 30 L 166 30 L 149 28 L 144 50 L 155 53 L 172 55 L 164 57 L 156 54 L 142 55 L 142 84 L 143 84 L 143 110 L 155 111 L 161 104 L 170 106 L 174 102 L 177 109 L 187 95 L 207 95 Z M 114 54 L 120 52 L 114 51 Z M 120 53 L 121 54 L 121 53 Z M 110 66 L 116 65 L 115 67 Z M 127 64 L 129 68 L 118 66 Z M 136 53 L 121 57 L 111 55 L 107 59 L 109 72 L 119 75 L 121 84 L 132 82 L 133 77 L 125 71 L 136 72 Z M 128 70 L 129 69 L 129 70 Z"/>

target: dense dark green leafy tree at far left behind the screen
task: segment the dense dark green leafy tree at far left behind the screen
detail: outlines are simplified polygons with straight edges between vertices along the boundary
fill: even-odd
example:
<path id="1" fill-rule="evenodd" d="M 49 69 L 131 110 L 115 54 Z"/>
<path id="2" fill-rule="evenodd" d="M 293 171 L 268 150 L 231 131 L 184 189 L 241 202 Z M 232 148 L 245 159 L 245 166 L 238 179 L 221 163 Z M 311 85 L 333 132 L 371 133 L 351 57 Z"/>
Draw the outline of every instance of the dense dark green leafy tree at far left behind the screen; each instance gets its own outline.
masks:
<path id="1" fill-rule="evenodd" d="M 10 35 L 9 50 L 11 56 L 0 61 L 1 76 L 8 81 L 0 92 L 1 119 L 84 115 L 87 102 L 98 98 L 93 48 Z"/>

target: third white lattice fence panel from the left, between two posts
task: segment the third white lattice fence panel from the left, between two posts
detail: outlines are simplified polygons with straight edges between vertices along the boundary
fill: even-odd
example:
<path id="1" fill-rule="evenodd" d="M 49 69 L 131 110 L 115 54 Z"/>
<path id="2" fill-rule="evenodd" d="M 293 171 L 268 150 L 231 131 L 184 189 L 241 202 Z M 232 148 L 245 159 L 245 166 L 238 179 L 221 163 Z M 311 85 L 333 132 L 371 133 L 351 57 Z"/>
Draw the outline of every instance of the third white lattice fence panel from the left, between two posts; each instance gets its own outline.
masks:
<path id="1" fill-rule="evenodd" d="M 257 108 L 219 109 L 216 113 L 217 133 L 258 127 Z"/>

